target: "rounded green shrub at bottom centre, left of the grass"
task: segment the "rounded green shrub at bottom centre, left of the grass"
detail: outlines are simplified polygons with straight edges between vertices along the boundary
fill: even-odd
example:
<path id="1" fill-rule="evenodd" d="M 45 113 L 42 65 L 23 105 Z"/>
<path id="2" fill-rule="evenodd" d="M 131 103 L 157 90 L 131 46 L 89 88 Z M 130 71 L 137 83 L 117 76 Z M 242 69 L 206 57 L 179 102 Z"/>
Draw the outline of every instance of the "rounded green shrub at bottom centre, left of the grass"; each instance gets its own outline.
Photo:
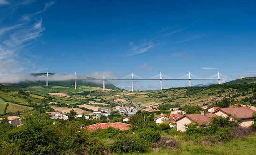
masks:
<path id="1" fill-rule="evenodd" d="M 110 146 L 110 150 L 118 154 L 143 153 L 149 150 L 149 143 L 136 135 L 121 133 Z"/>

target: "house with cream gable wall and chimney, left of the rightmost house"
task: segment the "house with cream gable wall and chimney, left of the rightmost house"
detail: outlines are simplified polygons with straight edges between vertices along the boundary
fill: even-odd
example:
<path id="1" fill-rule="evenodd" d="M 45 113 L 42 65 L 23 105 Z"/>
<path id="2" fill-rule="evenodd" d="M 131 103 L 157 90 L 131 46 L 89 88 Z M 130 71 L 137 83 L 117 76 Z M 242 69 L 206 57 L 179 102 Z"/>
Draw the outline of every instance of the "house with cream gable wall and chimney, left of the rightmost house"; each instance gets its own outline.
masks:
<path id="1" fill-rule="evenodd" d="M 203 126 L 203 125 L 210 125 L 211 118 L 216 117 L 216 116 L 217 115 L 215 115 L 213 113 L 204 114 L 203 111 L 201 112 L 201 114 L 185 115 L 176 121 L 177 131 L 185 132 L 186 125 L 190 124 L 191 122 L 197 123 L 199 127 Z"/>

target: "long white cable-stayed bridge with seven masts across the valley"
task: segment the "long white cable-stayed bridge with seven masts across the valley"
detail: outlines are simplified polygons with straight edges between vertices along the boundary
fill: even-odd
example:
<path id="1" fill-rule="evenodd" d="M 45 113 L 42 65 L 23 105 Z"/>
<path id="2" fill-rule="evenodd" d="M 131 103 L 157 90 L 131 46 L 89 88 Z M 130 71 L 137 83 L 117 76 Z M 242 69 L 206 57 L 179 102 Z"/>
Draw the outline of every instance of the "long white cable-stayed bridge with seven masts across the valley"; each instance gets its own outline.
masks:
<path id="1" fill-rule="evenodd" d="M 48 86 L 48 82 L 51 80 L 50 78 L 50 74 L 45 74 L 46 76 L 46 86 Z M 190 72 L 188 74 L 185 74 L 179 78 L 172 78 L 168 75 L 165 75 L 165 74 L 162 74 L 160 72 L 160 74 L 157 74 L 155 76 L 152 76 L 150 78 L 143 78 L 141 76 L 138 76 L 136 74 L 128 74 L 122 78 L 111 78 L 111 77 L 108 77 L 108 78 L 105 78 L 105 76 L 103 76 L 103 78 L 80 78 L 78 76 L 78 74 L 74 74 L 73 78 L 70 78 L 68 80 L 74 80 L 74 86 L 75 86 L 75 89 L 77 88 L 77 81 L 79 80 L 83 80 L 83 81 L 103 81 L 103 90 L 105 90 L 105 81 L 131 81 L 131 91 L 134 91 L 134 81 L 145 81 L 145 80 L 159 80 L 160 82 L 160 90 L 163 89 L 163 81 L 175 81 L 175 80 L 187 80 L 188 81 L 188 86 L 189 87 L 192 87 L 192 80 L 218 80 L 218 84 L 221 84 L 220 80 L 236 80 L 238 78 L 230 78 L 226 75 L 223 75 L 223 74 L 220 74 L 219 72 L 217 74 L 214 74 L 210 77 L 207 77 L 207 78 L 201 78 L 199 76 L 196 76 L 194 74 L 191 74 Z M 67 79 L 66 79 L 67 80 Z"/>

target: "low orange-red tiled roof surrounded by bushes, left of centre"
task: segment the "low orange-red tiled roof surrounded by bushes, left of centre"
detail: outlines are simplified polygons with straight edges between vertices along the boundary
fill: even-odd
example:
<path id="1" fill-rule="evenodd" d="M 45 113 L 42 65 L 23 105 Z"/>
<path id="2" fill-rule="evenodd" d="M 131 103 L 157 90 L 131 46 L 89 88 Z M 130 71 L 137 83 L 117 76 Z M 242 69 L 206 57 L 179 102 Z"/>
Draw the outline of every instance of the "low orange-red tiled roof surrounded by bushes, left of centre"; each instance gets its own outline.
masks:
<path id="1" fill-rule="evenodd" d="M 96 124 L 88 125 L 83 128 L 87 129 L 88 131 L 95 131 L 98 129 L 105 129 L 105 128 L 113 127 L 113 128 L 120 129 L 120 130 L 124 131 L 124 130 L 130 129 L 130 126 L 131 126 L 130 124 L 115 122 L 115 123 L 96 123 Z"/>

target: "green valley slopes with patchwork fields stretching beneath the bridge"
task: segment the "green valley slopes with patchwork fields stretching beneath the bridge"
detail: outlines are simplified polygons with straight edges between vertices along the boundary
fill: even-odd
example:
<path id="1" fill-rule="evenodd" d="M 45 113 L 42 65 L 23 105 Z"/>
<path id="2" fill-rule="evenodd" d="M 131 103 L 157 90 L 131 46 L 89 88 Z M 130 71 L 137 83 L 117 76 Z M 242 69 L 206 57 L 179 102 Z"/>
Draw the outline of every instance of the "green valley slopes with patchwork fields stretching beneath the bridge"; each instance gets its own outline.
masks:
<path id="1" fill-rule="evenodd" d="M 85 83 L 81 83 L 83 85 L 74 89 L 71 85 L 73 81 L 57 81 L 51 83 L 50 86 L 44 86 L 43 81 L 36 82 L 37 85 L 33 82 L 23 82 L 15 85 L 15 87 L 1 86 L 0 98 L 3 101 L 0 105 L 0 111 L 3 114 L 7 102 L 9 105 L 20 105 L 18 108 L 20 111 L 24 109 L 21 106 L 28 107 L 25 109 L 45 107 L 48 106 L 49 102 L 57 102 L 58 105 L 54 106 L 63 108 L 77 108 L 78 104 L 92 105 L 92 102 L 89 103 L 89 101 L 102 103 L 92 105 L 100 108 L 112 108 L 117 105 L 134 106 L 132 102 L 136 102 L 146 111 L 167 110 L 186 105 L 221 106 L 220 104 L 223 102 L 228 105 L 236 103 L 256 105 L 256 83 L 253 82 L 255 79 L 244 78 L 235 82 L 207 87 L 170 88 L 138 92 L 128 92 L 119 88 L 104 91 L 99 87 L 87 86 Z M 17 106 L 11 105 L 8 107 L 9 109 L 6 109 L 6 112 L 19 111 L 11 108 L 17 109 Z M 84 110 L 85 113 L 89 112 L 86 109 Z"/>

